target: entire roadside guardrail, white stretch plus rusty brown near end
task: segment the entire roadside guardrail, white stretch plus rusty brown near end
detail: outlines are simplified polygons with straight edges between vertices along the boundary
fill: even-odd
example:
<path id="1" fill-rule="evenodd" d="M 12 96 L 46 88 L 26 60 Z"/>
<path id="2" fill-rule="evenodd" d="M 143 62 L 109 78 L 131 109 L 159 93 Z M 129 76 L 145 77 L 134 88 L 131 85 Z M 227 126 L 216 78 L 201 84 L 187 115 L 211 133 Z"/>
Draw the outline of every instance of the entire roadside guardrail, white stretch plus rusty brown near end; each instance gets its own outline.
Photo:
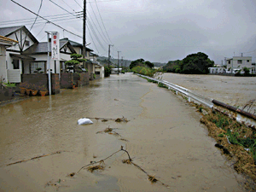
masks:
<path id="1" fill-rule="evenodd" d="M 195 102 L 200 102 L 201 104 L 207 106 L 208 108 L 212 108 L 214 110 L 218 110 L 222 113 L 229 115 L 231 118 L 236 119 L 238 122 L 245 123 L 247 126 L 252 127 L 256 130 L 256 115 L 252 113 L 248 113 L 242 111 L 239 108 L 235 108 L 233 106 L 227 105 L 223 102 L 218 102 L 212 98 L 208 98 L 206 96 L 202 96 L 198 93 L 195 93 L 192 90 L 188 90 L 182 86 L 177 84 L 172 84 L 166 80 L 154 79 L 145 75 L 137 74 L 140 77 L 145 79 L 150 79 L 156 81 L 158 84 L 165 84 L 169 90 L 175 90 L 176 94 L 181 93 L 188 98 L 188 101 L 191 102 L 191 99 Z"/>

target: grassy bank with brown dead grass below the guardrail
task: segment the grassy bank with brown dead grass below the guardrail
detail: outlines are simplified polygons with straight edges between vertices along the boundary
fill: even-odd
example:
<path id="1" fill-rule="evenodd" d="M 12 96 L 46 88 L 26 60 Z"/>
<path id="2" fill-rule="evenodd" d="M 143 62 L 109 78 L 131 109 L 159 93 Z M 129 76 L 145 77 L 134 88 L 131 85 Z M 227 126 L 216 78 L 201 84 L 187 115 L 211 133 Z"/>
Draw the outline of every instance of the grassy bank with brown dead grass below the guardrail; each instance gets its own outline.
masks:
<path id="1" fill-rule="evenodd" d="M 201 123 L 207 125 L 208 135 L 217 142 L 215 147 L 233 162 L 236 172 L 251 177 L 253 184 L 245 183 L 248 189 L 256 189 L 256 131 L 224 113 L 195 106 L 202 114 Z"/>

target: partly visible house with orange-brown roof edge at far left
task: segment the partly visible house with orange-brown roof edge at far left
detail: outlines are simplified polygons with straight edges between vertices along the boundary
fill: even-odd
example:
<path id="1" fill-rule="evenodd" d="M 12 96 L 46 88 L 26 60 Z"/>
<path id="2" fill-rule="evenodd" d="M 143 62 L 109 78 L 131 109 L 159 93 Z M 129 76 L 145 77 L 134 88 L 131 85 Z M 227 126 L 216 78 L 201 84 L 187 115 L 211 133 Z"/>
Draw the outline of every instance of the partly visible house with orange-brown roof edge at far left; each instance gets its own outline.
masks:
<path id="1" fill-rule="evenodd" d="M 0 36 L 0 80 L 7 82 L 7 62 L 6 62 L 6 48 L 18 44 L 18 41 L 15 41 L 11 38 L 5 38 Z M 0 88 L 1 89 L 1 88 Z"/>

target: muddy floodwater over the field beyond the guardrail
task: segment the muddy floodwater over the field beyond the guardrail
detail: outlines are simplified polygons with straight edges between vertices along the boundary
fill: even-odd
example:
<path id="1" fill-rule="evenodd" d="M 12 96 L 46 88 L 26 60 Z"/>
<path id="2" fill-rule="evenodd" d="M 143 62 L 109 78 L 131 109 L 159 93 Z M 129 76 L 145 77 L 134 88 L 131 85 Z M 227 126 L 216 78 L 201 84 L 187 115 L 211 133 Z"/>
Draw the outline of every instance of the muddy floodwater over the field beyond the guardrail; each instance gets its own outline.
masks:
<path id="1" fill-rule="evenodd" d="M 256 113 L 255 77 L 164 73 L 163 79 L 238 108 L 255 100 L 249 112 Z"/>

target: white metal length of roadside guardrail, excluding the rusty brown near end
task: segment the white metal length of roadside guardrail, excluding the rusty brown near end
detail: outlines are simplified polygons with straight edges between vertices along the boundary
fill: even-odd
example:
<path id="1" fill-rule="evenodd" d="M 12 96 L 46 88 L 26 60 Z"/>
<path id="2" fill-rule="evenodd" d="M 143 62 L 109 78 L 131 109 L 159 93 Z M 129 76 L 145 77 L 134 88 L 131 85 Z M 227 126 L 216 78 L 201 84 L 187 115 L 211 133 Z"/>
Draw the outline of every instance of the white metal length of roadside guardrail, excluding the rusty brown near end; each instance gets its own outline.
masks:
<path id="1" fill-rule="evenodd" d="M 198 93 L 193 92 L 192 90 L 188 90 L 188 89 L 183 88 L 182 86 L 179 86 L 177 84 L 172 84 L 166 80 L 154 79 L 154 78 L 150 78 L 148 76 L 141 75 L 141 74 L 137 74 L 137 75 L 139 75 L 143 78 L 146 78 L 146 79 L 157 81 L 158 84 L 159 83 L 165 84 L 169 90 L 175 90 L 176 94 L 179 92 L 179 93 L 182 93 L 183 95 L 185 95 L 186 97 L 188 97 L 189 102 L 191 102 L 191 98 L 192 98 L 196 102 L 200 102 L 201 104 L 206 105 L 208 108 L 213 108 L 213 103 L 212 103 L 213 99 L 211 99 L 211 98 L 207 98 L 206 96 L 202 96 Z"/>

